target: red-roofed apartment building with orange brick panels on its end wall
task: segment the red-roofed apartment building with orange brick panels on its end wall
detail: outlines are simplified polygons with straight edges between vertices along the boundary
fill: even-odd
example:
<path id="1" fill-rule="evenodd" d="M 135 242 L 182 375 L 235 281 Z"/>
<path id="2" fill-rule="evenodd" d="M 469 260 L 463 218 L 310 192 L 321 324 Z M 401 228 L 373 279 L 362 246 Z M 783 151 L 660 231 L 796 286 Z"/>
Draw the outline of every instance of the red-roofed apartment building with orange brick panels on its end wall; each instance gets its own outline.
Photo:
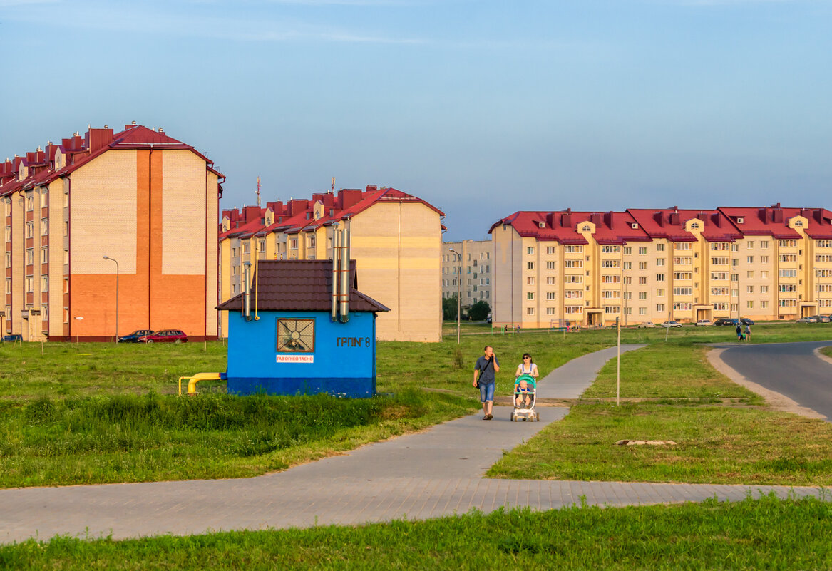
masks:
<path id="1" fill-rule="evenodd" d="M 135 122 L 0 162 L 2 333 L 112 340 L 175 327 L 215 338 L 223 180 L 193 146 Z"/>

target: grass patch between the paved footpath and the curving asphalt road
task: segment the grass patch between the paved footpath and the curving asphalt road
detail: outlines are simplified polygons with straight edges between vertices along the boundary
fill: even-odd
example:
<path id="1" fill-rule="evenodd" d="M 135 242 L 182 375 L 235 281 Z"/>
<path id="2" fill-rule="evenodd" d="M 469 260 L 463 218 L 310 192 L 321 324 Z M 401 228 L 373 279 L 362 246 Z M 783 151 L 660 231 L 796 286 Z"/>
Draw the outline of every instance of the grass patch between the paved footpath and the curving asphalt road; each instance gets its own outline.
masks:
<path id="1" fill-rule="evenodd" d="M 681 338 L 622 355 L 560 422 L 506 454 L 488 476 L 711 484 L 832 485 L 832 425 L 765 407 Z M 591 402 L 602 400 L 601 402 Z M 546 409 L 541 409 L 542 415 Z M 619 440 L 672 445 L 616 445 Z"/>

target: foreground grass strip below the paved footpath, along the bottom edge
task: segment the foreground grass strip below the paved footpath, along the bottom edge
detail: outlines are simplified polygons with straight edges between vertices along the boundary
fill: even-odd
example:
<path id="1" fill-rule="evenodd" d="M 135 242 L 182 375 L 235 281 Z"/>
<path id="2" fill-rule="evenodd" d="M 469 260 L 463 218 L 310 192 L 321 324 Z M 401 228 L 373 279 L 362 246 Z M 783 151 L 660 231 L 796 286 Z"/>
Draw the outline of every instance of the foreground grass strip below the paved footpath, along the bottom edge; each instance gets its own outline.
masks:
<path id="1" fill-rule="evenodd" d="M 359 527 L 0 546 L 2 569 L 830 569 L 832 505 L 527 509 Z"/>

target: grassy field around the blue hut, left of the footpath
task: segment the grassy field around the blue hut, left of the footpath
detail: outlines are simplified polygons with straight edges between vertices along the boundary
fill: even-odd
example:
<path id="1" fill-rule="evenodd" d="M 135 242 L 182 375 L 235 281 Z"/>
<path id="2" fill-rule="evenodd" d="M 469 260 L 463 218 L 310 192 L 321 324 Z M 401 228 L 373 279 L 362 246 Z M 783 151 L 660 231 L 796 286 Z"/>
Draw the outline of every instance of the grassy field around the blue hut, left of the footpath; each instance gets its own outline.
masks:
<path id="1" fill-rule="evenodd" d="M 547 372 L 604 346 L 580 341 L 494 342 L 509 363 L 498 379 L 524 350 Z M 484 343 L 380 343 L 372 400 L 229 397 L 208 383 L 177 397 L 179 376 L 225 370 L 220 343 L 3 345 L 0 486 L 249 477 L 423 429 L 478 409 Z"/>

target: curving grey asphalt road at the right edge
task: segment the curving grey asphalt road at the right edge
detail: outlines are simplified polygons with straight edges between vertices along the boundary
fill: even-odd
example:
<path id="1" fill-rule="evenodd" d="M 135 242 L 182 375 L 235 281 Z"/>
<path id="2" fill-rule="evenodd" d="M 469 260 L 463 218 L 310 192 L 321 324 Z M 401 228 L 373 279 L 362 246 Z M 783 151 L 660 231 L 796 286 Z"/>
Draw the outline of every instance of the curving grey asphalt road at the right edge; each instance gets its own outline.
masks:
<path id="1" fill-rule="evenodd" d="M 746 379 L 832 421 L 832 365 L 814 355 L 830 341 L 735 345 L 721 359 Z"/>

